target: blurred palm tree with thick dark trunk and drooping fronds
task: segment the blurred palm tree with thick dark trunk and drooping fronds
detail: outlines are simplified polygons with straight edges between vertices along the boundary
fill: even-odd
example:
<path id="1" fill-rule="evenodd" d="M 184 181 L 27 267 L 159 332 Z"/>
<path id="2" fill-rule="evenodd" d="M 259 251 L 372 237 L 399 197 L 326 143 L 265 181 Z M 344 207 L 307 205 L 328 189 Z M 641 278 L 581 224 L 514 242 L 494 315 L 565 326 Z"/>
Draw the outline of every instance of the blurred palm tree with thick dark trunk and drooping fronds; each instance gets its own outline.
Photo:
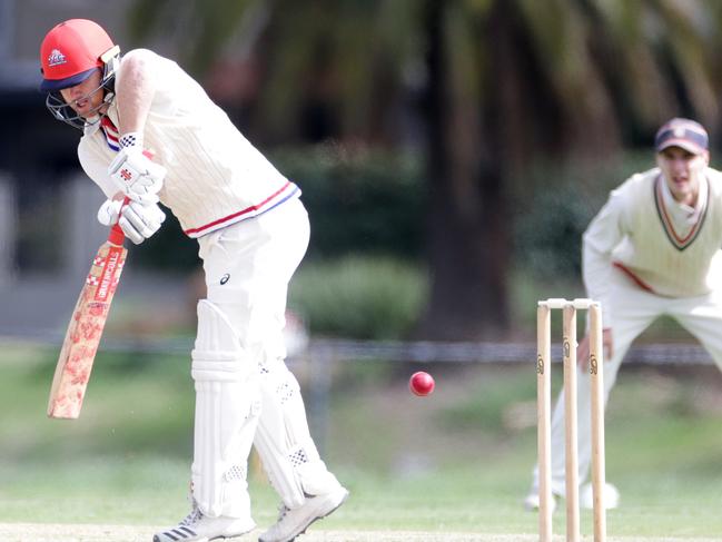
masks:
<path id="1" fill-rule="evenodd" d="M 304 108 L 340 140 L 398 141 L 399 102 L 421 95 L 432 294 L 421 333 L 508 329 L 514 207 L 525 171 L 600 159 L 670 116 L 716 127 L 714 0 L 139 0 L 145 28 L 180 19 L 198 72 L 238 50 L 259 66 L 248 119 L 269 141 L 303 138 Z M 185 21 L 185 22 L 184 22 Z M 238 32 L 243 29 L 243 32 Z M 240 45 L 238 45 L 240 43 Z M 553 180 L 548 187 L 553 187 Z"/>

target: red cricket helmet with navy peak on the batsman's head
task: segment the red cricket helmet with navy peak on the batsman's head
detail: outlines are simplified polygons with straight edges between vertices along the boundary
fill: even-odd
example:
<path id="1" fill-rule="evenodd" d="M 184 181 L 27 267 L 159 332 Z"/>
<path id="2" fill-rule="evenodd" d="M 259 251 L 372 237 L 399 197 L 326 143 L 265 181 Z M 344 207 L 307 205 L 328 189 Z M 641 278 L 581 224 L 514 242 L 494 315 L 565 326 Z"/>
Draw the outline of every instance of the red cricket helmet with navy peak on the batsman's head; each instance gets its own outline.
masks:
<path id="1" fill-rule="evenodd" d="M 98 23 L 87 19 L 61 22 L 47 33 L 40 46 L 43 77 L 40 89 L 52 92 L 78 85 L 93 70 L 105 70 L 119 52 Z"/>

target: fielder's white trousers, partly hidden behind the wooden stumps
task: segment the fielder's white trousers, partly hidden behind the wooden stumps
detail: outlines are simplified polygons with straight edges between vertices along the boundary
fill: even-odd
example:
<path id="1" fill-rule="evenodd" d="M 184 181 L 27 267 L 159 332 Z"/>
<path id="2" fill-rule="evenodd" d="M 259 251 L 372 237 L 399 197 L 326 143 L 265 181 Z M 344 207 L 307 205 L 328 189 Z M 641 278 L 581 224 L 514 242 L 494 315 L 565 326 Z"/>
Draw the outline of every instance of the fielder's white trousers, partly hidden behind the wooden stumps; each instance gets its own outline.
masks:
<path id="1" fill-rule="evenodd" d="M 604 401 L 616 381 L 616 374 L 632 342 L 654 319 L 667 315 L 700 341 L 722 369 L 722 292 L 698 297 L 661 297 L 641 289 L 619 269 L 614 269 L 611 287 L 613 356 L 604 363 Z M 587 371 L 577 371 L 578 480 L 583 483 L 592 461 L 591 392 Z M 552 417 L 552 491 L 565 494 L 564 391 Z M 538 469 L 534 470 L 534 487 L 538 487 Z"/>

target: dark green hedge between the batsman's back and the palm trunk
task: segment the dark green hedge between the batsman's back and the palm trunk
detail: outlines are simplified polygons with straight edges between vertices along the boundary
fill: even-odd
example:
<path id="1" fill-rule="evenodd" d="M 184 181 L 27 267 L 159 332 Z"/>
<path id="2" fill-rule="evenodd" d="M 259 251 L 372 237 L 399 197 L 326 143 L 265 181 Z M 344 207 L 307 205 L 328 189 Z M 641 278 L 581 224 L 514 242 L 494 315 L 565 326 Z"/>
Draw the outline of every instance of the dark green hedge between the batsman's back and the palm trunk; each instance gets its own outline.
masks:
<path id="1" fill-rule="evenodd" d="M 271 160 L 303 190 L 309 257 L 383 253 L 418 258 L 427 196 L 417 154 L 342 145 L 280 149 Z"/>

